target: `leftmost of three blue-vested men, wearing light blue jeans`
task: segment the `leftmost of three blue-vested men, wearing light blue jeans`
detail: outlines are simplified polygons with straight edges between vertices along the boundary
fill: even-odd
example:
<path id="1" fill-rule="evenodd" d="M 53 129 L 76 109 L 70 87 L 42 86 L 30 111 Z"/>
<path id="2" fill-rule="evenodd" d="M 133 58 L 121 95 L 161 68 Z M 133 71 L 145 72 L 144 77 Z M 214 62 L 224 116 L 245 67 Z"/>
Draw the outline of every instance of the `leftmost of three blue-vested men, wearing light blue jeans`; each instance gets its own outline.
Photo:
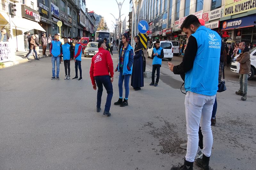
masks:
<path id="1" fill-rule="evenodd" d="M 50 47 L 50 54 L 52 55 L 52 80 L 55 79 L 55 62 L 56 62 L 56 79 L 59 80 L 60 73 L 60 56 L 62 55 L 61 42 L 59 41 L 59 35 L 54 35 L 55 40 L 52 41 Z"/>

